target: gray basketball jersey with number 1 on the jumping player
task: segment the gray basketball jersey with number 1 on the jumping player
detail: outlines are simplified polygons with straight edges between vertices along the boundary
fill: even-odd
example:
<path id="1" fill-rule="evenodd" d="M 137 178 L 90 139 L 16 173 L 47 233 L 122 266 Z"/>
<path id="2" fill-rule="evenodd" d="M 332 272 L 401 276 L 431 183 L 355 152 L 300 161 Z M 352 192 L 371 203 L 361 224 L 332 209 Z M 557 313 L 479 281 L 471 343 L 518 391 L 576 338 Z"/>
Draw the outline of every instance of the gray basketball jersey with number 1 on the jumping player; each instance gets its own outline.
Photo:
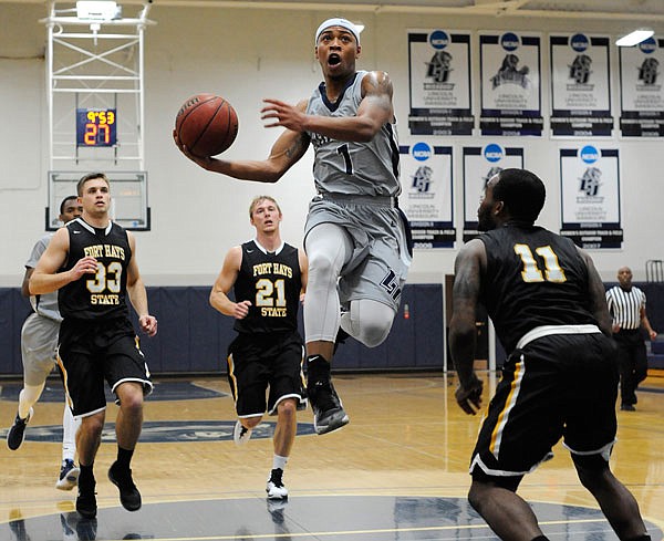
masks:
<path id="1" fill-rule="evenodd" d="M 309 98 L 307 113 L 320 116 L 356 116 L 362 102 L 359 71 L 336 103 L 331 103 L 321 83 Z M 315 150 L 313 178 L 317 191 L 332 194 L 392 196 L 401 194 L 396 123 L 385 124 L 369 143 L 336 141 L 309 132 Z"/>

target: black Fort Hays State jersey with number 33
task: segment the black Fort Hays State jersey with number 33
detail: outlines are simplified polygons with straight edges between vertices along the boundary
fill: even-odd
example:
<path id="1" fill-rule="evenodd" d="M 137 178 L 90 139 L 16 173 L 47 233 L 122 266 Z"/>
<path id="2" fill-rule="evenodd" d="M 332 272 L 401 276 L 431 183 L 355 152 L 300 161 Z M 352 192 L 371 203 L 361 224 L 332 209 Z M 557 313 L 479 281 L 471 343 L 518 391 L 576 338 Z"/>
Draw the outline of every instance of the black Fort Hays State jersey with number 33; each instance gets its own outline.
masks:
<path id="1" fill-rule="evenodd" d="M 126 304 L 127 267 L 132 249 L 127 232 L 117 223 L 94 228 L 82 218 L 66 225 L 70 237 L 68 261 L 62 271 L 72 269 L 85 256 L 97 260 L 96 274 L 84 274 L 58 293 L 63 318 L 96 320 L 128 316 Z"/>

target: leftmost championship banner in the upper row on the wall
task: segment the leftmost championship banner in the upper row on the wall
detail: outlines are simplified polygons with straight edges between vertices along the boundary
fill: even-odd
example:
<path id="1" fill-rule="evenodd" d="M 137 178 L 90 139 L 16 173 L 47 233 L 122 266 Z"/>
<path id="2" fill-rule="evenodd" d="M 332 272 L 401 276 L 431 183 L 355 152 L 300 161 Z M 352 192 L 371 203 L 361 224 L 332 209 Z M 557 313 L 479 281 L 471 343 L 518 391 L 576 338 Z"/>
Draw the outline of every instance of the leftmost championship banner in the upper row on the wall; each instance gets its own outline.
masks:
<path id="1" fill-rule="evenodd" d="M 408 32 L 413 135 L 471 135 L 470 34 Z"/>

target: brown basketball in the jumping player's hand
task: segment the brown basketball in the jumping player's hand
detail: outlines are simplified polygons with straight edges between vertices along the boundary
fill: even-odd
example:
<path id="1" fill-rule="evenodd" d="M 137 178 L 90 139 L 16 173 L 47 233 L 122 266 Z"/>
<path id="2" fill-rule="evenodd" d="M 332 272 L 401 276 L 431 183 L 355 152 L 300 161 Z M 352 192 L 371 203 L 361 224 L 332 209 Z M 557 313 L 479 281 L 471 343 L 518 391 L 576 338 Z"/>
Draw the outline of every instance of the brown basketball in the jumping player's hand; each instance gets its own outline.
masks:
<path id="1" fill-rule="evenodd" d="M 238 115 L 232 105 L 215 94 L 196 94 L 177 112 L 175 131 L 179 142 L 199 157 L 226 150 L 238 135 Z"/>

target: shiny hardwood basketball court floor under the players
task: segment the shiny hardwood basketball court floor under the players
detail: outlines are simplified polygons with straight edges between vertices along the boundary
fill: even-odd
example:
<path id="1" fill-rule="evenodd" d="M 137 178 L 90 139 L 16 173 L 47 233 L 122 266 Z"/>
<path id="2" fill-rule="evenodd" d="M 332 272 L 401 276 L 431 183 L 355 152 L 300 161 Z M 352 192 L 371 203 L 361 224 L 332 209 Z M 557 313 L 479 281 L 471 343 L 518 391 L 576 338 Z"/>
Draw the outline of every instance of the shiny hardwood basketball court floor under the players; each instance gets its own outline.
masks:
<path id="1" fill-rule="evenodd" d="M 485 378 L 487 404 L 494 378 L 488 374 Z M 193 383 L 228 393 L 225 377 L 195 379 Z M 95 464 L 100 506 L 100 537 L 96 539 L 496 539 L 481 526 L 481 521 L 473 519 L 465 507 L 470 481 L 468 458 L 480 419 L 479 416 L 466 416 L 456 406 L 454 375 L 342 374 L 335 376 L 335 386 L 351 416 L 351 424 L 336 433 L 315 436 L 311 433 L 311 410 L 300 413 L 299 429 L 304 435 L 295 440 L 284 476 L 290 507 L 286 511 L 286 522 L 281 516 L 281 529 L 274 527 L 272 531 L 270 526 L 263 531 L 261 521 L 266 519 L 257 511 L 260 507 L 264 514 L 264 483 L 271 468 L 271 440 L 258 437 L 246 447 L 235 446 L 231 437 L 234 405 L 230 396 L 224 395 L 146 402 L 146 424 L 156 423 L 162 427 L 159 430 L 167 431 L 169 426 L 193 422 L 226 423 L 225 428 L 215 428 L 217 431 L 211 434 L 206 434 L 205 428 L 197 429 L 185 441 L 139 443 L 133 469 L 144 508 L 137 513 L 120 508 L 117 490 L 106 479 L 106 470 L 115 458 L 115 444 L 102 444 Z M 15 402 L 0 400 L 0 426 L 6 428 L 11 424 L 15 407 Z M 633 413 L 618 413 L 619 441 L 613 451 L 612 468 L 635 495 L 649 527 L 656 531 L 657 528 L 664 529 L 664 377 L 651 376 L 643 383 L 636 407 Z M 116 409 L 113 404 L 108 406 L 107 424 L 115 419 Z M 28 430 L 58 426 L 61 419 L 62 403 L 38 403 Z M 144 436 L 146 434 L 144 430 Z M 568 511 L 577 508 L 590 508 L 592 511 L 598 506 L 577 480 L 566 449 L 559 444 L 554 452 L 551 461 L 526 477 L 519 491 L 536 503 L 544 531 L 554 532 L 552 539 L 557 540 L 616 539 L 606 533 L 606 524 L 596 534 L 587 531 L 571 533 L 569 521 L 574 522 L 570 519 L 574 512 Z M 53 517 L 61 514 L 59 521 L 64 524 L 66 517 L 75 516 L 75 512 L 72 513 L 75 490 L 62 492 L 54 489 L 60 458 L 58 441 L 39 443 L 28 438 L 17 451 L 0 445 L 0 541 L 62 539 L 62 533 L 55 535 L 49 528 L 53 526 Z M 346 507 L 340 510 L 338 506 L 342 500 Z M 418 506 L 419 511 L 424 509 L 422 512 L 435 522 L 436 513 L 444 514 L 446 509 L 450 509 L 446 501 L 456 509 L 457 522 L 456 528 L 446 530 L 445 535 L 439 531 L 430 533 L 436 530 L 435 523 L 423 524 L 422 517 L 404 514 L 404 510 L 411 512 L 413 506 Z M 194 503 L 198 507 L 188 507 Z M 395 517 L 388 517 L 387 527 L 381 522 L 357 522 L 356 517 L 352 517 L 380 518 L 385 507 L 401 509 L 398 513 L 395 511 Z M 335 516 L 336 522 L 305 523 L 304 518 L 312 512 L 323 520 L 326 509 L 340 513 Z M 556 509 L 564 512 L 548 514 L 549 510 Z M 152 514 L 148 516 L 147 511 L 142 514 L 144 510 L 151 510 Z M 184 512 L 185 519 L 179 518 L 179 512 Z M 211 528 L 208 523 L 215 522 L 208 513 L 219 513 L 217 522 L 226 522 L 229 528 L 232 522 L 235 530 L 206 530 Z M 403 519 L 401 522 L 396 514 Z M 21 518 L 24 520 L 22 538 L 21 532 L 17 534 L 17 520 Z M 190 521 L 188 534 L 186 531 L 183 533 L 179 523 L 170 524 L 180 520 Z M 467 529 L 466 520 L 470 526 L 475 524 L 475 530 Z M 136 523 L 135 530 L 143 528 L 143 535 L 127 533 L 123 538 L 111 533 L 111 523 L 132 521 Z M 245 531 L 242 521 L 256 531 Z M 278 522 L 274 513 L 272 521 Z M 408 528 L 403 527 L 403 521 Z M 596 524 L 598 519 L 577 517 L 577 524 L 587 522 Z M 153 523 L 154 527 L 146 526 Z M 290 530 L 283 524 L 290 524 Z M 170 533 L 165 533 L 165 528 Z M 293 533 L 295 529 L 299 533 Z M 350 530 L 354 533 L 349 534 Z M 391 533 L 385 533 L 387 531 Z M 429 533 L 424 535 L 424 531 Z M 94 539 L 84 538 L 82 533 L 79 535 L 65 535 L 65 539 Z M 656 532 L 653 539 L 662 539 L 661 533 Z"/>

